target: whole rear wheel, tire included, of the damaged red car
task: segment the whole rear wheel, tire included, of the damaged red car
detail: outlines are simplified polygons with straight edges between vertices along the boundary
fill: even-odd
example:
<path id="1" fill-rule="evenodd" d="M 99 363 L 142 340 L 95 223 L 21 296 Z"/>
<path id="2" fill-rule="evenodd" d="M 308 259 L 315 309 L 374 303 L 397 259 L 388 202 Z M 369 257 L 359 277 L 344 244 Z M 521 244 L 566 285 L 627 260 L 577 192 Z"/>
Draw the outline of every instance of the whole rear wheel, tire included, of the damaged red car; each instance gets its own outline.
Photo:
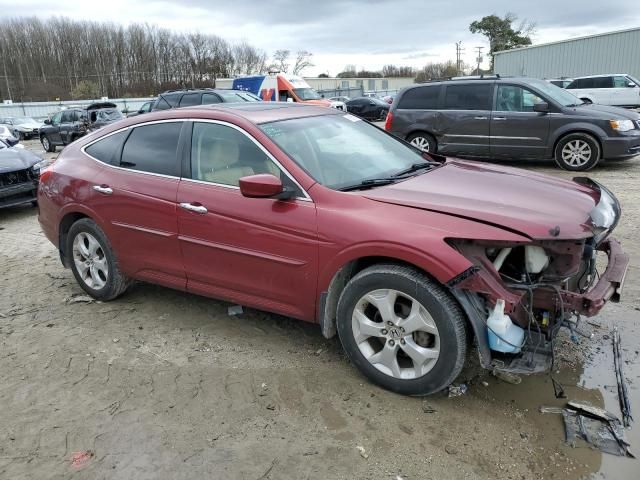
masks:
<path id="1" fill-rule="evenodd" d="M 80 287 L 96 300 L 113 300 L 131 285 L 118 266 L 111 243 L 91 219 L 82 218 L 67 234 L 66 255 Z"/>

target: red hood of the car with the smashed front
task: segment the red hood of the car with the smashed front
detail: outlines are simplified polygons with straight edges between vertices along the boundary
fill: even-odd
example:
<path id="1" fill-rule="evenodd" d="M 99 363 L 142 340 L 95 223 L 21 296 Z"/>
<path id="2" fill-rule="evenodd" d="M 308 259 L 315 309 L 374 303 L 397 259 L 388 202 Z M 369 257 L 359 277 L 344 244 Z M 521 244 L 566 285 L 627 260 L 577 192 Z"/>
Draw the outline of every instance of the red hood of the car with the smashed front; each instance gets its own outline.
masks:
<path id="1" fill-rule="evenodd" d="M 516 168 L 458 159 L 363 196 L 496 225 L 532 239 L 593 234 L 590 213 L 600 192 Z"/>

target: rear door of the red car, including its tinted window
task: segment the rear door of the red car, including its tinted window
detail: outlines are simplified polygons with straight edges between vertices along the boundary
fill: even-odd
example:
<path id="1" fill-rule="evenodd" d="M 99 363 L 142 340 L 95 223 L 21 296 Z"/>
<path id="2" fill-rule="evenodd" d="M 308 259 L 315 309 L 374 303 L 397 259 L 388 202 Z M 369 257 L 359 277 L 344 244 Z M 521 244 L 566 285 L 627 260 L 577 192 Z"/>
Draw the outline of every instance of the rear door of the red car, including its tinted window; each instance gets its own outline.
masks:
<path id="1" fill-rule="evenodd" d="M 143 124 L 84 148 L 106 164 L 92 186 L 98 195 L 90 207 L 108 222 L 107 236 L 121 267 L 136 278 L 178 289 L 186 286 L 176 217 L 183 124 Z"/>

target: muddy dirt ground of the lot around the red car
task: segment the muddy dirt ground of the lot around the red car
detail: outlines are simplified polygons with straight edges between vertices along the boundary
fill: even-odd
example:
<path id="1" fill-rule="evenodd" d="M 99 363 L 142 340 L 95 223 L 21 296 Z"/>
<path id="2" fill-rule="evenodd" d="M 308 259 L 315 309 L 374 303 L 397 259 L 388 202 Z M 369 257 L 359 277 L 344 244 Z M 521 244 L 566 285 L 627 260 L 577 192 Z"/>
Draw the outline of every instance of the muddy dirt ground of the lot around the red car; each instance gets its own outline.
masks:
<path id="1" fill-rule="evenodd" d="M 623 302 L 586 325 L 595 338 L 558 342 L 558 378 L 619 414 L 618 324 L 640 416 L 640 158 L 589 175 L 622 202 L 632 266 Z M 142 283 L 77 302 L 36 214 L 0 210 L 0 478 L 637 478 L 637 461 L 565 445 L 561 418 L 538 411 L 564 402 L 547 375 L 511 385 L 472 361 L 466 395 L 408 398 L 369 384 L 316 325 Z"/>

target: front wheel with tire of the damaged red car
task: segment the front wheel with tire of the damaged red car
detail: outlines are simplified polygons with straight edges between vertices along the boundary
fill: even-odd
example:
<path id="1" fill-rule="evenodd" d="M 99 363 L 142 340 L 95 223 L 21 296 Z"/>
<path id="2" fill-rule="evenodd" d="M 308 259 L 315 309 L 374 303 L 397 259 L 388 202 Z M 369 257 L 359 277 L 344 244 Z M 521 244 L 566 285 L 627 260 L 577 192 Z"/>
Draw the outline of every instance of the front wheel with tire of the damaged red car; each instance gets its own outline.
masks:
<path id="1" fill-rule="evenodd" d="M 354 276 L 338 300 L 337 329 L 360 372 L 404 395 L 446 388 L 467 354 L 460 306 L 441 285 L 408 266 L 374 265 Z"/>

